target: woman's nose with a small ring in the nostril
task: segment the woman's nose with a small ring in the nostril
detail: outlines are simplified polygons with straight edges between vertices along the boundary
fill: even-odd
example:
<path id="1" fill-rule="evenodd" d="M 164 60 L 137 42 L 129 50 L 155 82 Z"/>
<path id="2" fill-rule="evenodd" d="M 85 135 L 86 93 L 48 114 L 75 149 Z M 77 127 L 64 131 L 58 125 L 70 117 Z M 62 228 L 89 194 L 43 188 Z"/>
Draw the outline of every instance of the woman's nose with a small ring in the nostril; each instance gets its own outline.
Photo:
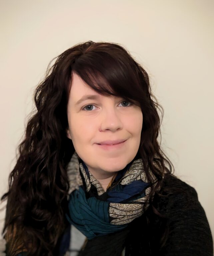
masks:
<path id="1" fill-rule="evenodd" d="M 100 131 L 110 130 L 112 132 L 123 128 L 119 113 L 115 108 L 108 108 L 102 111 Z"/>

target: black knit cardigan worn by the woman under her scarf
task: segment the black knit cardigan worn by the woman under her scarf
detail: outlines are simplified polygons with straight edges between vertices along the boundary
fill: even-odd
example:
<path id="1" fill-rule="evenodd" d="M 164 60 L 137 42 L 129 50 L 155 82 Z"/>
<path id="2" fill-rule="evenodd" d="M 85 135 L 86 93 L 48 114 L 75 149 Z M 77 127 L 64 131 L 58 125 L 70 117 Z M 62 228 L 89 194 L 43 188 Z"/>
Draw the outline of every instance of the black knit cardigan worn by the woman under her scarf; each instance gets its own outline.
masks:
<path id="1" fill-rule="evenodd" d="M 162 217 L 150 206 L 125 230 L 88 240 L 87 253 L 79 256 L 121 256 L 124 247 L 125 256 L 213 256 L 210 227 L 193 187 L 167 174 L 153 205 Z M 70 227 L 58 255 L 65 255 L 69 243 Z"/>

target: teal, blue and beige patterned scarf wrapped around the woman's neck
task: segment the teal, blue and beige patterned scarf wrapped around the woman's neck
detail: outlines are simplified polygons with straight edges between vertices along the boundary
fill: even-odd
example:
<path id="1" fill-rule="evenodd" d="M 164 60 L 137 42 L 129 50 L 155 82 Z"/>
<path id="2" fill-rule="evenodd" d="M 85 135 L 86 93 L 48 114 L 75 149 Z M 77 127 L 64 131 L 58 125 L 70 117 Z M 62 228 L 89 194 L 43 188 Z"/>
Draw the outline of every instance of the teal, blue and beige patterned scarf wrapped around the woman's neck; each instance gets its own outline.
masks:
<path id="1" fill-rule="evenodd" d="M 134 158 L 118 171 L 106 192 L 76 152 L 68 164 L 67 173 L 70 190 L 66 218 L 88 240 L 124 229 L 148 208 L 151 184 L 142 159 Z M 150 175 L 155 183 L 155 176 Z"/>

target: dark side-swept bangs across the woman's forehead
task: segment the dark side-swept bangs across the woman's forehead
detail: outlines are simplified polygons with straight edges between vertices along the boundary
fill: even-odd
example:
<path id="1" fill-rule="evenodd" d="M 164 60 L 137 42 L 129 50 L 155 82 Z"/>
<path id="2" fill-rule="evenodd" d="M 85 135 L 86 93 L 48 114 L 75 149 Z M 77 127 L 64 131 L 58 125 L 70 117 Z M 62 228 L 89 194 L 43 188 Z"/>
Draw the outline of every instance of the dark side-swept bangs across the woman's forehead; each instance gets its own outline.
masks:
<path id="1" fill-rule="evenodd" d="M 124 49 L 112 47 L 105 51 L 91 50 L 75 60 L 72 71 L 79 75 L 96 92 L 114 95 L 141 103 L 144 98 L 136 62 Z M 145 87 L 147 87 L 145 83 Z"/>

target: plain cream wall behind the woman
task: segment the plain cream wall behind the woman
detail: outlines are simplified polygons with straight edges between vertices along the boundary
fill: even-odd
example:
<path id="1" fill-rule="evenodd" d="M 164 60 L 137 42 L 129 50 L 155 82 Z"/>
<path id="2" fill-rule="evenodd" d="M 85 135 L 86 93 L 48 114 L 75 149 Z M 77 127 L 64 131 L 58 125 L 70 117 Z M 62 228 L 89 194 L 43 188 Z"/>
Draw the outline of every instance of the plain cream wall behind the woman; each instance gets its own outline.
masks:
<path id="1" fill-rule="evenodd" d="M 214 234 L 213 13 L 212 0 L 1 0 L 1 195 L 48 63 L 80 42 L 115 42 L 149 73 L 164 108 L 162 148 Z"/>

